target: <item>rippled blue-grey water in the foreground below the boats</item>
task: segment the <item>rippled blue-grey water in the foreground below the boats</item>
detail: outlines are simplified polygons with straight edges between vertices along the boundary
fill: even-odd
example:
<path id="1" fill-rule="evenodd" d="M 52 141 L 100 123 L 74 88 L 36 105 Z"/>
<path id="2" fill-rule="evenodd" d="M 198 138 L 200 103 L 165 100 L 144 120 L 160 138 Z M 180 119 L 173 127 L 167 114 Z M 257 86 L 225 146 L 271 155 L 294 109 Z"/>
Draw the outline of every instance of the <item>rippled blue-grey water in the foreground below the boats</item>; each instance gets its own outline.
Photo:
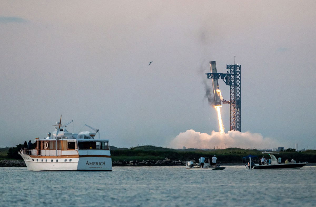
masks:
<path id="1" fill-rule="evenodd" d="M 0 168 L 0 206 L 316 206 L 316 166 L 299 170 Z"/>

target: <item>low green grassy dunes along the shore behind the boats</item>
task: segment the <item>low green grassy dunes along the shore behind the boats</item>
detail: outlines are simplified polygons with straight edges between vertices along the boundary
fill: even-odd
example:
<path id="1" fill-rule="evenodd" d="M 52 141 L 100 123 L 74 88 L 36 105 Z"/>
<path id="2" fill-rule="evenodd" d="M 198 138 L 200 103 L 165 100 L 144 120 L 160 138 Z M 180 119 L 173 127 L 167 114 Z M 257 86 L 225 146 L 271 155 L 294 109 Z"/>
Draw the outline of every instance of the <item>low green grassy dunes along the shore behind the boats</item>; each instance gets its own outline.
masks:
<path id="1" fill-rule="evenodd" d="M 9 148 L 0 148 L 0 160 L 8 159 Z M 262 152 L 259 150 L 249 150 L 240 148 L 216 149 L 216 150 L 200 150 L 200 149 L 185 149 L 175 150 L 164 147 L 155 147 L 151 145 L 137 146 L 131 148 L 117 148 L 111 146 L 112 161 L 131 161 L 131 160 L 163 160 L 166 157 L 171 160 L 191 160 L 198 161 L 199 157 L 213 157 L 216 155 L 217 161 L 221 163 L 241 163 L 242 157 L 247 155 L 257 155 L 262 157 Z M 304 152 L 281 152 L 276 157 L 281 157 L 282 162 L 286 159 L 294 159 L 296 162 L 316 163 L 316 150 L 307 150 Z"/>

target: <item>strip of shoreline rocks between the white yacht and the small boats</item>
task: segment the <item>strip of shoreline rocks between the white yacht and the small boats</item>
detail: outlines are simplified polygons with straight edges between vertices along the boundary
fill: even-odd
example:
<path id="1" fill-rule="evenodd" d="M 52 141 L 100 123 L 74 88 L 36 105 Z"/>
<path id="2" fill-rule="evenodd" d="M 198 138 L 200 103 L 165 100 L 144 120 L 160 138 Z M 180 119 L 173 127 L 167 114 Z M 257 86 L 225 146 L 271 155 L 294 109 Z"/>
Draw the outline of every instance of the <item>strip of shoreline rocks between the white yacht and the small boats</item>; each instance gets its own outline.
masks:
<path id="1" fill-rule="evenodd" d="M 141 162 L 138 160 L 131 161 L 114 161 L 112 162 L 112 166 L 175 166 L 175 165 L 185 165 L 185 162 L 181 160 L 170 160 L 167 157 L 164 160 L 142 160 Z"/>

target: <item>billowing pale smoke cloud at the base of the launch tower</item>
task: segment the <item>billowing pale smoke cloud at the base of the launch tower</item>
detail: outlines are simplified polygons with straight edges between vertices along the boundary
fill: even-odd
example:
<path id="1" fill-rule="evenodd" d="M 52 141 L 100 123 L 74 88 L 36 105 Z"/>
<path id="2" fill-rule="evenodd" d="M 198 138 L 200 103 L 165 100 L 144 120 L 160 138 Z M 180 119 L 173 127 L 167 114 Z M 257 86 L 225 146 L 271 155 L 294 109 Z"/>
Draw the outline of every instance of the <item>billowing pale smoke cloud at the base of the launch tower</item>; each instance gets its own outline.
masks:
<path id="1" fill-rule="evenodd" d="M 186 148 L 198 149 L 225 149 L 230 147 L 238 147 L 244 149 L 272 149 L 280 146 L 280 143 L 264 138 L 260 133 L 229 131 L 228 133 L 220 133 L 212 131 L 211 134 L 196 132 L 188 129 L 186 132 L 179 133 L 169 143 L 170 148 L 179 149 Z"/>

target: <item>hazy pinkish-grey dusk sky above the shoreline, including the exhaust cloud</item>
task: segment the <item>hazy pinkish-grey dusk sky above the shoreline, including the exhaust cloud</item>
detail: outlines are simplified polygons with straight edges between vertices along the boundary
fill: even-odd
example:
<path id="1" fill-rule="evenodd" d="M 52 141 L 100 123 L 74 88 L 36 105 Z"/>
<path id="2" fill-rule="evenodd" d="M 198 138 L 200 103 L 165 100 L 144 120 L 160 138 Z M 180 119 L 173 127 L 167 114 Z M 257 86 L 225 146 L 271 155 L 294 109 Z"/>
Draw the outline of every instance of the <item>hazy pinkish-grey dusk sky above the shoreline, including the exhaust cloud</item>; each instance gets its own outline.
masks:
<path id="1" fill-rule="evenodd" d="M 314 149 L 315 1 L 0 1 L 0 147 L 52 125 L 110 145 Z M 241 133 L 205 87 L 241 65 Z M 149 65 L 149 62 L 152 63 Z M 219 80 L 223 98 L 229 86 Z"/>

